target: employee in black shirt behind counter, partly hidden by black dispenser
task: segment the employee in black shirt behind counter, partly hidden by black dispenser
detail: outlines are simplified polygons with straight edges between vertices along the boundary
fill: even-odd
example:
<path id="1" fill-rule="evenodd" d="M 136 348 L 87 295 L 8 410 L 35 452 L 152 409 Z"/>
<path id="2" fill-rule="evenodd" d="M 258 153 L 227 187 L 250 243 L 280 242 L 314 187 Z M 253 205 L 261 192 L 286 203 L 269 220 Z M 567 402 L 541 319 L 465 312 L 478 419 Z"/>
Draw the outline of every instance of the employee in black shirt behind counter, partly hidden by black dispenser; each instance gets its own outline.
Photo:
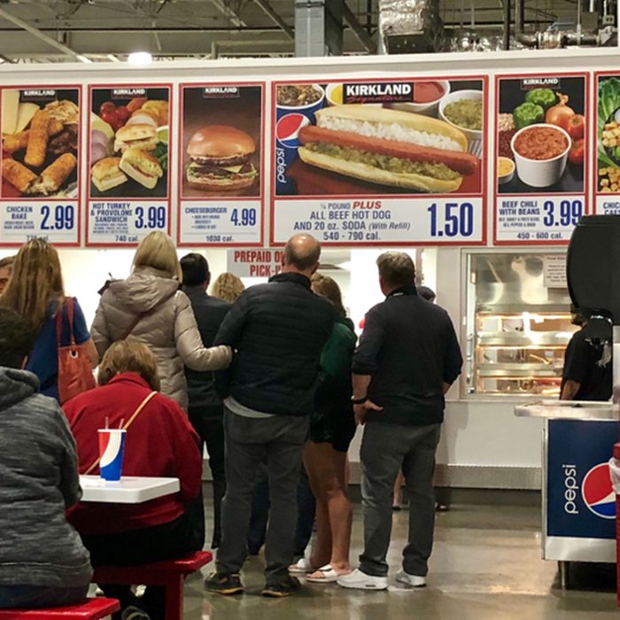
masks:
<path id="1" fill-rule="evenodd" d="M 573 334 L 564 353 L 561 400 L 608 400 L 611 398 L 611 352 L 608 339 L 593 338 L 585 330 L 585 315 L 571 307 Z"/>

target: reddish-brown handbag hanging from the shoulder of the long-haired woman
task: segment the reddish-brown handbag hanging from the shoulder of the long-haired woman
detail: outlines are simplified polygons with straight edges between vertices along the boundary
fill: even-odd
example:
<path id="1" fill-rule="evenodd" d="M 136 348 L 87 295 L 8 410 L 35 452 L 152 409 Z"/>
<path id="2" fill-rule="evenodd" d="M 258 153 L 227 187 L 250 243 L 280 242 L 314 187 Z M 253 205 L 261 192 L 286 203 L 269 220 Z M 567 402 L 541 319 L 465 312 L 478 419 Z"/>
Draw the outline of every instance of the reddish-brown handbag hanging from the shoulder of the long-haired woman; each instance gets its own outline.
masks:
<path id="1" fill-rule="evenodd" d="M 68 346 L 61 346 L 65 307 L 69 320 L 70 342 Z M 56 315 L 56 340 L 58 344 L 58 400 L 63 405 L 67 400 L 73 399 L 83 391 L 92 390 L 96 386 L 87 345 L 78 345 L 75 342 L 74 298 L 72 297 L 66 298 L 65 306 L 61 307 Z"/>

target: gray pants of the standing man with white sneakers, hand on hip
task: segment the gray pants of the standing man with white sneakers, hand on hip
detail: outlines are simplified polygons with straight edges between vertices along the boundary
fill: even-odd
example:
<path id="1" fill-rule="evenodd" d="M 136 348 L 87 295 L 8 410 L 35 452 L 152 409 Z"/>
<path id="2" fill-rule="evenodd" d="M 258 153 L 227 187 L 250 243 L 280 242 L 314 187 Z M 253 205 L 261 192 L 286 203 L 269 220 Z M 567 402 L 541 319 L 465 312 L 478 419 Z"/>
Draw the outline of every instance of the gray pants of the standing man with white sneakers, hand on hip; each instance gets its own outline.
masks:
<path id="1" fill-rule="evenodd" d="M 402 468 L 409 499 L 409 538 L 403 550 L 403 569 L 409 575 L 426 576 L 435 528 L 432 479 L 440 429 L 441 424 L 366 424 L 360 452 L 364 514 L 360 570 L 367 575 L 388 574 L 385 557 L 391 537 L 391 496 Z"/>

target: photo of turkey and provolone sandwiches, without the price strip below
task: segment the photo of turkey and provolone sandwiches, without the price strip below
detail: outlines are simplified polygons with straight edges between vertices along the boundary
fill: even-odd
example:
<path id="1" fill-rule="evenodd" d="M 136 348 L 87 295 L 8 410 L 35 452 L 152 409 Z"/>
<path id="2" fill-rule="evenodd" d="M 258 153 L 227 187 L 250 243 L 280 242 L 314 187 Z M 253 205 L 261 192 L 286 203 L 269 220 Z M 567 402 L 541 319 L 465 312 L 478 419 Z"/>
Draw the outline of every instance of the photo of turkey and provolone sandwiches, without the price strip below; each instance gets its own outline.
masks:
<path id="1" fill-rule="evenodd" d="M 167 198 L 169 87 L 90 89 L 90 198 Z"/>

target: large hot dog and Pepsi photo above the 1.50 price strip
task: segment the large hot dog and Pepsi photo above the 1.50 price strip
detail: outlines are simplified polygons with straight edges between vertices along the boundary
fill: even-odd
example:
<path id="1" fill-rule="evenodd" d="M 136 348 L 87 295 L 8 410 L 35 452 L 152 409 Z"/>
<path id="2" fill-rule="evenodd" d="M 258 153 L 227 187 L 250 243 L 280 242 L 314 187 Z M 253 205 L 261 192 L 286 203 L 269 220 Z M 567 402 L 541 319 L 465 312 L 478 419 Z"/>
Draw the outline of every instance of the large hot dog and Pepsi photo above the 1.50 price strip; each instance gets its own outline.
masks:
<path id="1" fill-rule="evenodd" d="M 276 83 L 275 195 L 482 190 L 480 80 Z"/>

